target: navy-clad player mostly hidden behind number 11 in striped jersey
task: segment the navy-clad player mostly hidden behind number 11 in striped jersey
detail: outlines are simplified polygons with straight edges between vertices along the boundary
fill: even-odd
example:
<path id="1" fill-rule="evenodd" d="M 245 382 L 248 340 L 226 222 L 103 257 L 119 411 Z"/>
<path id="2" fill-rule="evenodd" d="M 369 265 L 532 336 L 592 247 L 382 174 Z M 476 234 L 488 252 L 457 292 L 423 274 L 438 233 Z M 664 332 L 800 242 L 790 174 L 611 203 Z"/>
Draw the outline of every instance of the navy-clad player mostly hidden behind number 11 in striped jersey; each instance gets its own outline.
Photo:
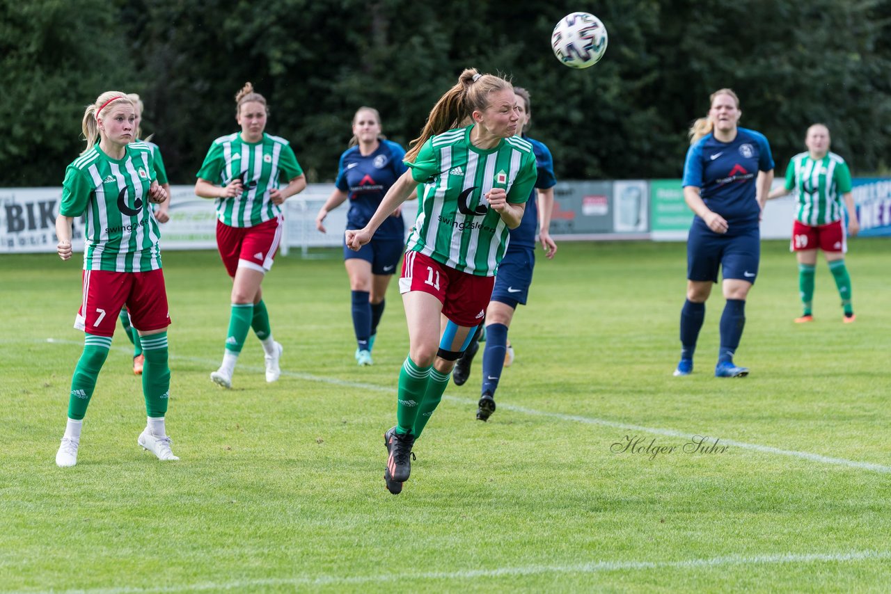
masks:
<path id="1" fill-rule="evenodd" d="M 501 378 L 505 364 L 505 352 L 508 348 L 507 332 L 511 327 L 513 313 L 517 305 L 526 305 L 529 285 L 532 284 L 532 270 L 535 267 L 535 230 L 542 241 L 544 254 L 549 259 L 557 253 L 557 244 L 551 239 L 551 211 L 554 203 L 554 176 L 551 151 L 542 142 L 523 135 L 523 130 L 532 118 L 532 104 L 526 89 L 515 86 L 517 95 L 517 135 L 532 144 L 535 152 L 537 177 L 535 188 L 538 193 L 538 207 L 535 205 L 535 191 L 526 202 L 526 212 L 519 227 L 511 229 L 511 242 L 501 264 L 498 264 L 498 275 L 495 277 L 495 289 L 492 300 L 486 307 L 486 348 L 483 350 L 483 386 L 478 403 L 477 419 L 487 420 L 495 412 L 495 390 Z M 537 211 L 537 212 L 536 212 Z M 539 213 L 541 216 L 539 217 Z M 464 351 L 461 359 L 455 363 L 452 377 L 454 383 L 461 386 L 470 376 L 470 363 L 477 354 L 480 332 L 474 334 L 470 346 Z"/>

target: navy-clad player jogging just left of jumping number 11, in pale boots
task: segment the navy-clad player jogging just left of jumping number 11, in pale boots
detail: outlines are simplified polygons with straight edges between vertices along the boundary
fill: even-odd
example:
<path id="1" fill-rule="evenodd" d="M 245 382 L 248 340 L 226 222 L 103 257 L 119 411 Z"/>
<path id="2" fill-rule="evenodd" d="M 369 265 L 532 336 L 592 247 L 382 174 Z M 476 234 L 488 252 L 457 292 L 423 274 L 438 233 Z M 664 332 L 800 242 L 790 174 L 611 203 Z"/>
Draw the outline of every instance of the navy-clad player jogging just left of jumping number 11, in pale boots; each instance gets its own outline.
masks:
<path id="1" fill-rule="evenodd" d="M 371 220 L 380 200 L 399 175 L 405 173 L 405 150 L 380 134 L 380 114 L 360 107 L 353 116 L 350 148 L 340 155 L 337 186 L 319 209 L 315 227 L 325 232 L 325 216 L 349 198 L 347 229 L 362 229 Z M 400 209 L 380 224 L 372 241 L 353 251 L 344 245 L 343 257 L 352 291 L 353 329 L 356 331 L 356 361 L 372 364 L 372 347 L 377 336 L 384 297 L 396 264 L 405 248 L 405 224 Z"/>

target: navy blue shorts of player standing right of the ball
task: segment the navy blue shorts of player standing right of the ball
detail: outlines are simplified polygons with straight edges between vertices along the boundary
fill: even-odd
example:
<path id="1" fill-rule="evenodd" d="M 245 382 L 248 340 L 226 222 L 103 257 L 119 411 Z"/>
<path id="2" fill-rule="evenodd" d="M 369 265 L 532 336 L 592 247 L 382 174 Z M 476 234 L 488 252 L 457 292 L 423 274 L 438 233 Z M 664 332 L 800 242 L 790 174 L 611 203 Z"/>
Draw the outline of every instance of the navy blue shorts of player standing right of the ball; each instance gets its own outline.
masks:
<path id="1" fill-rule="evenodd" d="M 702 231 L 694 225 L 687 238 L 687 278 L 691 281 L 718 281 L 718 268 L 724 279 L 755 284 L 761 259 L 761 230 L 754 227 L 740 234 L 726 235 Z"/>

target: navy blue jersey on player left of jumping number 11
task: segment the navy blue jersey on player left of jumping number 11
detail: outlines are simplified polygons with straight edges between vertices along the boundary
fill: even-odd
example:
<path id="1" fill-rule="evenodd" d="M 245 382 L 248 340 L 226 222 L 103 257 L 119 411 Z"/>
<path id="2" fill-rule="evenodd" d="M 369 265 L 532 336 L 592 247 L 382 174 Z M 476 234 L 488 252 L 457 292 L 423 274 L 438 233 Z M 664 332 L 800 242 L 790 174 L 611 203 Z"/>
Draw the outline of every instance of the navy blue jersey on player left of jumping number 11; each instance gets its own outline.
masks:
<path id="1" fill-rule="evenodd" d="M 338 190 L 347 192 L 349 211 L 347 229 L 362 229 L 372 219 L 380 200 L 405 173 L 405 149 L 388 140 L 381 140 L 377 151 L 362 156 L 359 147 L 350 147 L 340 155 Z M 374 233 L 375 240 L 405 240 L 405 224 L 401 216 L 388 216 Z"/>

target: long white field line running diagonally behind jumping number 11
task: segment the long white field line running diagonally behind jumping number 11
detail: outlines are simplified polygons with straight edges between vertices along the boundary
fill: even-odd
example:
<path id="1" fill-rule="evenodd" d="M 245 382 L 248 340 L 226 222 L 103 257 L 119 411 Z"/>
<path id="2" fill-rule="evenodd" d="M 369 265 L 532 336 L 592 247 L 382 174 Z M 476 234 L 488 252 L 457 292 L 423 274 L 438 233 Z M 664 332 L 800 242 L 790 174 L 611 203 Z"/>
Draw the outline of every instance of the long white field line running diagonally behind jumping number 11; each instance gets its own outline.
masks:
<path id="1" fill-rule="evenodd" d="M 74 340 L 58 340 L 55 338 L 47 338 L 46 342 L 60 345 L 77 345 L 82 346 L 83 343 L 74 341 Z M 119 347 L 116 350 L 119 351 L 127 351 L 131 352 L 130 349 L 126 347 Z M 208 365 L 208 369 L 212 369 L 217 363 L 210 361 L 208 359 L 200 358 L 200 357 L 189 357 L 189 356 L 179 356 L 171 357 L 172 359 L 177 359 L 180 361 L 190 361 L 190 362 L 199 362 L 206 363 Z M 258 367 L 251 367 L 249 365 L 242 366 L 243 370 L 250 371 L 263 371 Z M 363 382 L 355 382 L 355 381 L 346 381 L 339 378 L 330 378 L 326 376 L 316 376 L 310 373 L 300 373 L 297 371 L 288 371 L 282 370 L 282 375 L 290 378 L 298 378 L 298 379 L 306 379 L 307 381 L 316 381 L 325 384 L 331 384 L 333 386 L 342 386 L 342 387 L 352 387 L 362 390 L 372 390 L 375 392 L 385 392 L 388 394 L 393 394 L 394 389 L 392 387 L 381 387 L 376 386 L 374 384 L 366 384 Z M 465 405 L 476 405 L 476 400 L 471 400 L 469 398 L 461 398 L 458 396 L 444 395 L 444 400 L 449 400 L 454 403 L 461 403 Z M 615 427 L 618 429 L 630 429 L 633 431 L 641 431 L 643 433 L 650 433 L 656 435 L 667 435 L 670 437 L 681 437 L 683 439 L 690 439 L 693 435 L 709 435 L 707 433 L 699 433 L 692 434 L 690 432 L 678 431 L 676 429 L 665 429 L 661 427 L 645 427 L 642 425 L 634 425 L 634 423 L 625 423 L 620 421 L 608 420 L 608 419 L 597 419 L 596 417 L 583 417 L 580 415 L 569 415 L 564 414 L 562 412 L 552 412 L 552 411 L 536 411 L 535 409 L 527 409 L 522 406 L 516 406 L 513 404 L 498 404 L 498 408 L 504 411 L 514 411 L 521 412 L 523 414 L 527 414 L 535 417 L 544 417 L 548 419 L 560 419 L 564 421 L 576 421 L 577 423 L 584 423 L 585 425 L 600 425 L 601 427 Z M 812 462 L 819 462 L 821 464 L 830 464 L 833 466 L 843 466 L 847 468 L 858 468 L 860 470 L 871 470 L 873 472 L 880 472 L 891 474 L 891 467 L 884 466 L 882 464 L 875 464 L 873 462 L 861 462 L 857 460 L 846 460 L 845 458 L 833 458 L 831 456 L 823 456 L 822 454 L 815 454 L 811 452 L 798 452 L 797 450 L 784 450 L 781 448 L 775 448 L 770 445 L 762 445 L 760 443 L 748 443 L 748 442 L 740 442 L 733 439 L 724 439 L 721 438 L 721 442 L 723 445 L 730 445 L 733 447 L 738 447 L 743 450 L 752 450 L 754 452 L 764 452 L 775 454 L 778 456 L 788 456 L 790 458 L 799 458 L 801 460 L 809 460 Z"/>

